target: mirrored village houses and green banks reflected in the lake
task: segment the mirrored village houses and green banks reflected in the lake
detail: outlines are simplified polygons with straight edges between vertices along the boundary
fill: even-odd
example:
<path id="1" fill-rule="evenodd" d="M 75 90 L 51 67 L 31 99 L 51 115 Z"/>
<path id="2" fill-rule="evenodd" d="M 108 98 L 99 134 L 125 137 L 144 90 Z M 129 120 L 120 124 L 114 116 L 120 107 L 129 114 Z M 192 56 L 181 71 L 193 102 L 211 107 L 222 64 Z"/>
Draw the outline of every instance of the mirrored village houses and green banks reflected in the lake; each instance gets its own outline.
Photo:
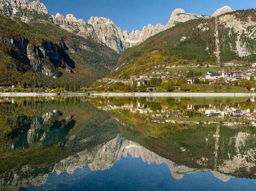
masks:
<path id="1" fill-rule="evenodd" d="M 112 98 L 113 99 L 113 98 Z M 256 106 L 255 97 L 250 98 L 140 98 L 134 103 L 127 100 L 128 103 L 113 104 L 112 99 L 107 102 L 100 101 L 98 109 L 108 110 L 129 110 L 134 114 L 145 114 L 151 117 L 153 122 L 158 123 L 196 123 L 204 124 L 219 123 L 223 125 L 251 125 L 256 126 Z M 209 102 L 209 99 L 212 102 Z M 232 100 L 240 100 L 241 102 L 232 103 Z M 244 100 L 244 101 L 242 101 Z M 152 103 L 153 104 L 150 104 Z M 158 104 L 154 104 L 157 102 Z M 163 106 L 167 102 L 166 108 Z M 187 102 L 188 105 L 183 103 Z M 163 103 L 163 104 L 161 104 Z M 169 105 L 168 105 L 169 103 Z M 150 107 L 152 105 L 152 107 Z M 194 120 L 193 120 L 194 119 Z M 197 121 L 196 121 L 197 120 Z"/>

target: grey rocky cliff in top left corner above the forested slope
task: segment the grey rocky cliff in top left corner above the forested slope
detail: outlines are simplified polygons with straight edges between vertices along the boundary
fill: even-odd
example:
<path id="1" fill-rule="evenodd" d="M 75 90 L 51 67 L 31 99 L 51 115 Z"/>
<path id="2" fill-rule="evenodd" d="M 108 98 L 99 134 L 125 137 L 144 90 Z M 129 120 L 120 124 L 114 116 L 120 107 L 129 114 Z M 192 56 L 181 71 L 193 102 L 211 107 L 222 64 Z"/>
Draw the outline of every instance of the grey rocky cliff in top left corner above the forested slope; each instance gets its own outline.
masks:
<path id="1" fill-rule="evenodd" d="M 1 0 L 0 14 L 10 16 L 14 19 L 23 20 L 25 22 L 37 19 L 44 19 L 52 22 L 52 17 L 46 6 L 40 1 Z"/>

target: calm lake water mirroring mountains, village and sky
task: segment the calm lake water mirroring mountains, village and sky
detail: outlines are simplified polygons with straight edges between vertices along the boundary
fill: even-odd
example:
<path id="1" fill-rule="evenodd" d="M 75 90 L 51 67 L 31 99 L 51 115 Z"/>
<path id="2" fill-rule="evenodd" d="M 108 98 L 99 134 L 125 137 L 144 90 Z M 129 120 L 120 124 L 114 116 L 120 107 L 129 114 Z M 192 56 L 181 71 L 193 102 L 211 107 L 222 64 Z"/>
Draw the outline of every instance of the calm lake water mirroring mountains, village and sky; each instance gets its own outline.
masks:
<path id="1" fill-rule="evenodd" d="M 254 97 L 0 97 L 0 190 L 256 190 Z"/>

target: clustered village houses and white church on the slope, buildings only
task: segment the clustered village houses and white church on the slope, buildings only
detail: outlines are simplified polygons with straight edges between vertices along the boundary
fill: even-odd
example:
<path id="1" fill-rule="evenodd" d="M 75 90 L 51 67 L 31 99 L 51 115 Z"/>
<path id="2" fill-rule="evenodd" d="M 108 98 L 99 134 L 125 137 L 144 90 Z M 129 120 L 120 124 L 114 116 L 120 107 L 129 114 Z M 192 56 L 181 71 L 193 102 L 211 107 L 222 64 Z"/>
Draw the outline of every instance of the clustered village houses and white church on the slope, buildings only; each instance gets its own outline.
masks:
<path id="1" fill-rule="evenodd" d="M 238 64 L 234 63 L 225 63 L 224 65 L 227 66 L 235 66 Z M 240 66 L 240 65 L 239 65 Z M 155 66 L 152 68 L 159 68 L 159 67 L 165 67 L 165 65 L 159 65 Z M 181 68 L 183 66 L 174 66 L 177 68 Z M 173 68 L 173 66 L 166 66 L 166 69 L 168 68 Z M 163 70 L 163 71 L 153 71 L 151 74 L 155 75 L 149 75 L 149 74 L 144 74 L 144 75 L 132 75 L 130 76 L 129 79 L 125 80 L 120 80 L 120 79 L 110 79 L 110 78 L 104 78 L 102 80 L 98 80 L 99 82 L 103 81 L 106 82 L 107 84 L 111 83 L 116 83 L 116 82 L 122 82 L 125 85 L 130 84 L 131 86 L 133 85 L 133 81 L 138 82 L 138 86 L 142 84 L 146 84 L 147 82 L 150 81 L 151 78 L 156 77 L 160 78 L 162 80 L 174 80 L 174 79 L 184 79 L 185 74 L 188 73 L 189 70 L 176 70 L 174 74 L 171 74 L 170 71 L 168 70 Z M 243 79 L 245 80 L 256 80 L 256 63 L 252 63 L 250 68 L 245 69 L 244 71 L 241 71 L 239 69 L 234 70 L 232 72 L 225 72 L 224 69 L 222 71 L 218 72 L 212 72 L 208 71 L 204 75 L 201 76 L 196 76 L 200 81 L 205 82 L 205 80 L 209 81 L 209 84 L 213 84 L 216 82 L 219 82 L 220 84 L 222 83 L 229 83 L 233 81 L 242 81 Z M 184 79 L 188 84 L 194 84 L 195 77 L 189 77 L 188 79 Z"/>

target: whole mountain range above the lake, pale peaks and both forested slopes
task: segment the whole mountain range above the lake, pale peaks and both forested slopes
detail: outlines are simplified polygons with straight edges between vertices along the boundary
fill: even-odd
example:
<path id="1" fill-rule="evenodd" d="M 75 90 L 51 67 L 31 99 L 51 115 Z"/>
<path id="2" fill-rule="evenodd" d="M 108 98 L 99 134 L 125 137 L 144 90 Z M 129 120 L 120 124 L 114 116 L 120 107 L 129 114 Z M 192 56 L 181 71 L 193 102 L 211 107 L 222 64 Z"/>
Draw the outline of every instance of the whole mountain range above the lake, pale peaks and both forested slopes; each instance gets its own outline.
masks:
<path id="1" fill-rule="evenodd" d="M 103 17 L 85 22 L 73 14 L 53 16 L 40 1 L 1 0 L 0 14 L 2 86 L 20 81 L 23 86 L 73 81 L 89 86 L 106 75 L 145 73 L 159 62 L 220 63 L 244 56 L 252 60 L 256 52 L 255 10 L 224 6 L 207 16 L 177 8 L 165 26 L 148 24 L 131 33 Z"/>

